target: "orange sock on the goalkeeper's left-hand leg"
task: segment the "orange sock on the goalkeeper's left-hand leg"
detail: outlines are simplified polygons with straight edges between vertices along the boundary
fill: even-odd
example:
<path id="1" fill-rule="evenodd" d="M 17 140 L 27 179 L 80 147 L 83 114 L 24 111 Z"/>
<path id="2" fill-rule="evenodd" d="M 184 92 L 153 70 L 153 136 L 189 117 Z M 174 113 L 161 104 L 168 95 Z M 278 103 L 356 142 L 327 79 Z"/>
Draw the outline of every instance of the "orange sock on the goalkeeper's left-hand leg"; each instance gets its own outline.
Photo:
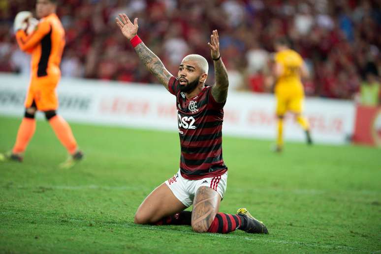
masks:
<path id="1" fill-rule="evenodd" d="M 24 117 L 17 132 L 16 142 L 13 146 L 12 153 L 23 153 L 27 148 L 29 141 L 31 141 L 35 130 L 36 120 L 34 118 Z"/>

